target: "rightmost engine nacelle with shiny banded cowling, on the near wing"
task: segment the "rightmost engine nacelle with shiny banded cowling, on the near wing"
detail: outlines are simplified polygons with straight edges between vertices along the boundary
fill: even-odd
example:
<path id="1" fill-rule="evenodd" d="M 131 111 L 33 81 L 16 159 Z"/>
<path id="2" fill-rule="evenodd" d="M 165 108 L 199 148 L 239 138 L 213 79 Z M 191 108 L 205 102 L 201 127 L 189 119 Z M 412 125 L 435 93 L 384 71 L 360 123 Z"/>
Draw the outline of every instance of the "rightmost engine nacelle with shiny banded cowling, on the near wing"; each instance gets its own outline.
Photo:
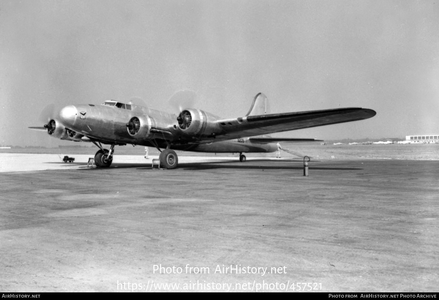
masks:
<path id="1" fill-rule="evenodd" d="M 185 134 L 205 136 L 220 131 L 216 120 L 217 117 L 213 114 L 194 108 L 183 110 L 177 118 L 178 127 Z"/>

